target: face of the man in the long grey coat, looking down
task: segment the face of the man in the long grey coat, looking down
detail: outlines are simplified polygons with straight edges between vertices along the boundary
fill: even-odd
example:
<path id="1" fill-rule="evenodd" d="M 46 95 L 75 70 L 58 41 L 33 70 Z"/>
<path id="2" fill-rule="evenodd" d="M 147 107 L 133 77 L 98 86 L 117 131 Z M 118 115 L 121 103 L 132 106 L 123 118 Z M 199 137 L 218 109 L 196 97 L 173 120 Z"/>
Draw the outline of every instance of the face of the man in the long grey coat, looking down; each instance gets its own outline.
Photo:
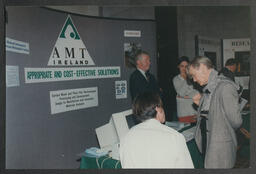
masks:
<path id="1" fill-rule="evenodd" d="M 197 82 L 200 86 L 208 83 L 210 70 L 204 65 L 200 64 L 199 68 L 190 67 L 189 74 L 193 78 L 194 82 Z"/>

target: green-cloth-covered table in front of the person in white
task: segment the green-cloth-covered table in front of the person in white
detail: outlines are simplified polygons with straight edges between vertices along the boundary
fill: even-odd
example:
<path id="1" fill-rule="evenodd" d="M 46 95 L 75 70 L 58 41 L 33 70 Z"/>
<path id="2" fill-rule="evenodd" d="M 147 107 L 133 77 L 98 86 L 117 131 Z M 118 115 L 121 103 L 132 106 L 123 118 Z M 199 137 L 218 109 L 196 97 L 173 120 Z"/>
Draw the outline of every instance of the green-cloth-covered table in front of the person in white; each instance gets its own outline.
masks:
<path id="1" fill-rule="evenodd" d="M 179 132 L 185 131 L 194 125 L 185 127 L 181 129 Z M 203 168 L 203 158 L 197 148 L 196 142 L 194 139 L 191 141 L 187 142 L 187 147 L 190 152 L 193 164 L 195 168 Z M 100 158 L 92 158 L 92 157 L 86 157 L 82 156 L 81 157 L 81 162 L 80 162 L 80 169 L 113 169 L 117 168 L 120 169 L 121 163 L 118 160 L 112 159 L 109 156 L 102 156 Z"/>

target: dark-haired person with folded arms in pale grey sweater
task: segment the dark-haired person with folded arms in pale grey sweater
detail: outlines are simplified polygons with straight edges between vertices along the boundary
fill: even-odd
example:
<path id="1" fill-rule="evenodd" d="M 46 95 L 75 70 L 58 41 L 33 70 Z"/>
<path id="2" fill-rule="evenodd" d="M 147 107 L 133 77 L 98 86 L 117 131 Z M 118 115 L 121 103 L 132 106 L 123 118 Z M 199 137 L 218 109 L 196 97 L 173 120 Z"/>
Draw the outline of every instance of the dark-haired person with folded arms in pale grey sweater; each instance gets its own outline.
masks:
<path id="1" fill-rule="evenodd" d="M 180 122 L 193 123 L 196 122 L 196 110 L 193 108 L 193 99 L 199 101 L 200 93 L 193 88 L 192 84 L 188 84 L 186 68 L 188 66 L 188 57 L 179 58 L 178 68 L 180 74 L 172 80 L 173 86 L 177 92 L 177 116 Z"/>

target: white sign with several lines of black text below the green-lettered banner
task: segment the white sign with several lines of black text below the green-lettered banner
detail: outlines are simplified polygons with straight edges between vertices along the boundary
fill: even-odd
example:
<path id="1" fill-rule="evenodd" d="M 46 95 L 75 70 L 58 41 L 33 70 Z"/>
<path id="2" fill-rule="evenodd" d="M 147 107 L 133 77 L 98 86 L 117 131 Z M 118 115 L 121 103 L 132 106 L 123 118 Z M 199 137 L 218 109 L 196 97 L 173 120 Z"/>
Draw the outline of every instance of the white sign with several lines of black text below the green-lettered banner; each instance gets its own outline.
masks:
<path id="1" fill-rule="evenodd" d="M 51 114 L 98 106 L 98 87 L 50 91 Z"/>

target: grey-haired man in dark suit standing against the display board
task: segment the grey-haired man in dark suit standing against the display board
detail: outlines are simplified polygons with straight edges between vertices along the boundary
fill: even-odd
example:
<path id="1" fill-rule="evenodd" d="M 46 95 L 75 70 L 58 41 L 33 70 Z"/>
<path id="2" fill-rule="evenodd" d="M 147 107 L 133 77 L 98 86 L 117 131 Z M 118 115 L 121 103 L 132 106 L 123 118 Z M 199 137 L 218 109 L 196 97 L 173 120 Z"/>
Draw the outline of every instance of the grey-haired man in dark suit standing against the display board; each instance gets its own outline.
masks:
<path id="1" fill-rule="evenodd" d="M 160 88 L 153 74 L 149 73 L 150 57 L 145 51 L 139 51 L 135 56 L 136 70 L 130 76 L 130 93 L 132 100 L 143 92 L 156 92 Z"/>

